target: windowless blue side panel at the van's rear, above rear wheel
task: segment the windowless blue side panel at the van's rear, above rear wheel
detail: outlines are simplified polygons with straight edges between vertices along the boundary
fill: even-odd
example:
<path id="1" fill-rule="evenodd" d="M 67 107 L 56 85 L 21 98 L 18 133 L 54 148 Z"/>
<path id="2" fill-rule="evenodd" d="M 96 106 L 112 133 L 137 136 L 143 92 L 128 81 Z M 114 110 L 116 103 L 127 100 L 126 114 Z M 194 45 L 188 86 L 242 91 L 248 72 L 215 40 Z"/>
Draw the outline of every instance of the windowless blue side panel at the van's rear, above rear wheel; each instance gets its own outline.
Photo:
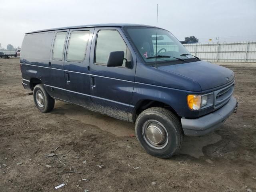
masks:
<path id="1" fill-rule="evenodd" d="M 44 84 L 49 83 L 50 50 L 54 32 L 26 34 L 20 55 L 22 78 L 37 78 Z"/>

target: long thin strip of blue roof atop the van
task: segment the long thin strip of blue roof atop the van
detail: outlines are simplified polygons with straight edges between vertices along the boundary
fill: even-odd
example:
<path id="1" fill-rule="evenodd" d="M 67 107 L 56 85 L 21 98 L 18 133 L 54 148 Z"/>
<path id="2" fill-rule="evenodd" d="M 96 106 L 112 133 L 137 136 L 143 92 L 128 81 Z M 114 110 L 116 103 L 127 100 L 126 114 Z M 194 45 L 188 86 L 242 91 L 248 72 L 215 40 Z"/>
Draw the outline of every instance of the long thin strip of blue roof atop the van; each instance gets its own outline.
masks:
<path id="1" fill-rule="evenodd" d="M 108 23 L 108 24 L 91 24 L 91 25 L 80 25 L 80 26 L 70 26 L 70 27 L 59 27 L 59 28 L 52 28 L 52 29 L 44 29 L 44 30 L 28 32 L 26 34 L 46 32 L 46 31 L 54 31 L 54 30 L 62 30 L 62 29 L 78 29 L 78 28 L 89 28 L 89 27 L 154 27 L 154 28 L 156 28 L 155 26 L 142 25 L 142 24 Z"/>

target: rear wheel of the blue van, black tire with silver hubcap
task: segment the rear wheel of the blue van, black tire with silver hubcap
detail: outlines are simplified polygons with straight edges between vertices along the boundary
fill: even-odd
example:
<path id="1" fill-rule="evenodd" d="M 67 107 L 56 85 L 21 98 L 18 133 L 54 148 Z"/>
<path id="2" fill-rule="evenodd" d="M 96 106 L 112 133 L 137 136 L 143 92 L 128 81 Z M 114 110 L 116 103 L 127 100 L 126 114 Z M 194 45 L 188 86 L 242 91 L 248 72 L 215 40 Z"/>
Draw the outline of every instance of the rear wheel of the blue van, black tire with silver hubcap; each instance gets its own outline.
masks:
<path id="1" fill-rule="evenodd" d="M 52 98 L 45 90 L 44 84 L 37 84 L 33 90 L 33 97 L 36 107 L 40 112 L 50 112 L 54 108 L 54 98 Z M 38 99 L 38 98 L 39 99 Z M 41 100 L 40 98 L 43 98 Z M 42 102 L 41 102 L 42 101 Z"/>

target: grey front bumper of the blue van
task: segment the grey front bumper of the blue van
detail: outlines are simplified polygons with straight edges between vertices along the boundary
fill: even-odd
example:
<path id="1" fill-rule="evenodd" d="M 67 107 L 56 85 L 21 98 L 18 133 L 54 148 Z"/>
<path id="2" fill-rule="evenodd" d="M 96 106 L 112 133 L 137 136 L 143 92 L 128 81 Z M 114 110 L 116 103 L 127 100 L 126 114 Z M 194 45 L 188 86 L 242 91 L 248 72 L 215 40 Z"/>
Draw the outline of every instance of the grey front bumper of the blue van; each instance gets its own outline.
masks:
<path id="1" fill-rule="evenodd" d="M 181 119 L 182 128 L 185 135 L 201 136 L 219 128 L 225 120 L 236 112 L 237 102 L 233 96 L 222 108 L 196 119 Z"/>

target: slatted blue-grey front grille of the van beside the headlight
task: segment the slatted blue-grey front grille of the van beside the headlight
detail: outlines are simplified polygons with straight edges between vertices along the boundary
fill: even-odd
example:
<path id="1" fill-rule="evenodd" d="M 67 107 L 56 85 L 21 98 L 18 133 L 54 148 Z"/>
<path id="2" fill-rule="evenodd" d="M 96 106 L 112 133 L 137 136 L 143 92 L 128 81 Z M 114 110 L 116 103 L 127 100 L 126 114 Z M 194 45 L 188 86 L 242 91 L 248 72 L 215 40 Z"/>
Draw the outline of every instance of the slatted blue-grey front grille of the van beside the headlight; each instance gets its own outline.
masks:
<path id="1" fill-rule="evenodd" d="M 231 84 L 229 86 L 226 86 L 222 89 L 216 90 L 213 92 L 214 94 L 214 105 L 213 108 L 214 109 L 218 109 L 220 107 L 222 107 L 224 104 L 226 104 L 234 91 L 234 84 Z"/>

